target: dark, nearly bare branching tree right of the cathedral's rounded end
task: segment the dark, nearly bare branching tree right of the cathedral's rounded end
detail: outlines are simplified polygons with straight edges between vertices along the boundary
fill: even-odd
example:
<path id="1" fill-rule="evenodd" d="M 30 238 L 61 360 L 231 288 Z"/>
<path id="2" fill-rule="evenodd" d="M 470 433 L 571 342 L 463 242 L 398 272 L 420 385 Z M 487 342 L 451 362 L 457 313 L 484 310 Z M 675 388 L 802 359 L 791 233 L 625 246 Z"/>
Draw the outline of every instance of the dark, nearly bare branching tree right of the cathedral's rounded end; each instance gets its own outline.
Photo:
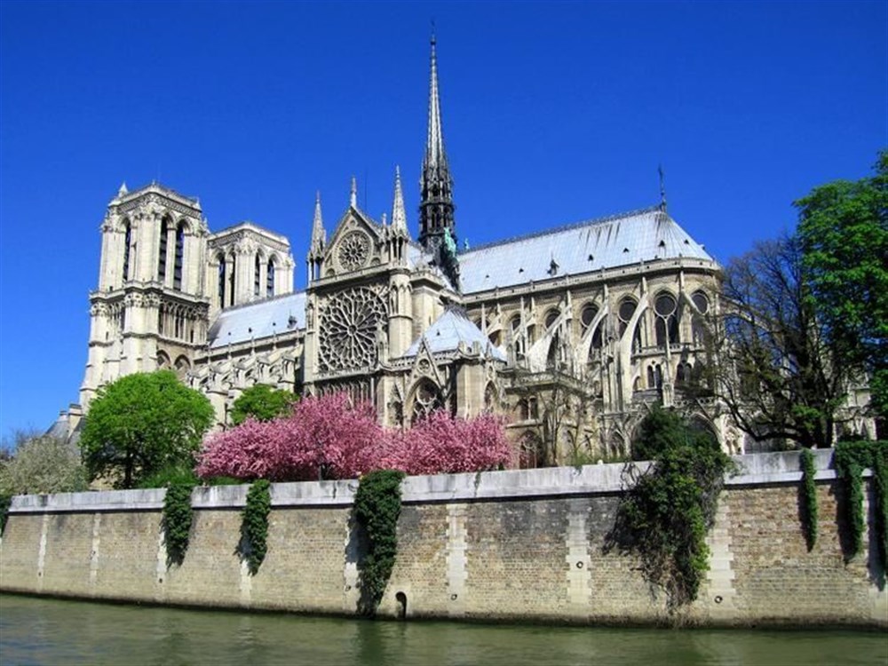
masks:
<path id="1" fill-rule="evenodd" d="M 849 369 L 828 345 L 799 242 L 757 243 L 725 270 L 713 387 L 756 440 L 829 447 Z"/>

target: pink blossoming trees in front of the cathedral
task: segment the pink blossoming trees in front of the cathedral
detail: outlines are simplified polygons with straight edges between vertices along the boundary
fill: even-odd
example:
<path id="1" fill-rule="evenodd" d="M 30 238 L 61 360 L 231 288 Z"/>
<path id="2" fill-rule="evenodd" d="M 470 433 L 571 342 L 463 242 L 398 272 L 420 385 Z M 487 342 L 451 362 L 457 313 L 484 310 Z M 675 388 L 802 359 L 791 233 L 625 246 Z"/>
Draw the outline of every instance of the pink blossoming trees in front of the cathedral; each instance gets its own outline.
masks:
<path id="1" fill-rule="evenodd" d="M 464 420 L 439 411 L 406 432 L 377 424 L 369 403 L 343 393 L 300 400 L 291 416 L 211 435 L 198 456 L 202 478 L 353 479 L 375 469 L 408 474 L 477 472 L 513 463 L 495 416 Z"/>

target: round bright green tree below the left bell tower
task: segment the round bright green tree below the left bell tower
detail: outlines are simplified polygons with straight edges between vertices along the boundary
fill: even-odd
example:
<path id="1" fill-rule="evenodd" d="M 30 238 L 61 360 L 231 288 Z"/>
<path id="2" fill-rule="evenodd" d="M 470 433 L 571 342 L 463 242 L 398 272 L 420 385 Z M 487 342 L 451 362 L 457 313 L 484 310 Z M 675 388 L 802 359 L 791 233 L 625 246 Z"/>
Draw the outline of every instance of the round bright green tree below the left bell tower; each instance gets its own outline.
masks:
<path id="1" fill-rule="evenodd" d="M 133 488 L 168 467 L 194 464 L 215 418 L 210 400 L 160 370 L 103 386 L 90 405 L 80 448 L 91 478 Z"/>

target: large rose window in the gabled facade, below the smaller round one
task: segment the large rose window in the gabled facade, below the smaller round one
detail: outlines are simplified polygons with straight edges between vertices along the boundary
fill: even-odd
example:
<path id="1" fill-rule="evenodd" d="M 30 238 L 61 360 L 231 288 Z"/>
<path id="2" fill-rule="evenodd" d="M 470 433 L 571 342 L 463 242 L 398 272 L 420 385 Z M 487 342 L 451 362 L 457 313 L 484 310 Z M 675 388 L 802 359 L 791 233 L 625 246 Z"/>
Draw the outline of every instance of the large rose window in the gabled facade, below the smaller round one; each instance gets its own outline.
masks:
<path id="1" fill-rule="evenodd" d="M 321 314 L 321 369 L 364 368 L 376 361 L 377 337 L 385 333 L 385 305 L 366 288 L 333 298 Z"/>

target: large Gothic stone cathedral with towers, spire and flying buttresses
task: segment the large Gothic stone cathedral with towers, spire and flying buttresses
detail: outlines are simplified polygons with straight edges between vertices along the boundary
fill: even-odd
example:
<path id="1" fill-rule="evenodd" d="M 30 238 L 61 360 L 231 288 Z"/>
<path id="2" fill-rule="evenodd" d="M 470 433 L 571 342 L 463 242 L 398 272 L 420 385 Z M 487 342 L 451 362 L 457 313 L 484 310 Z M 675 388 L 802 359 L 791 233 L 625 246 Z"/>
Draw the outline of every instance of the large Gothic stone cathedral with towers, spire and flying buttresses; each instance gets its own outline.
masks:
<path id="1" fill-rule="evenodd" d="M 361 210 L 354 181 L 332 224 L 319 195 L 306 288 L 295 291 L 285 236 L 250 222 L 211 232 L 197 200 L 122 186 L 101 226 L 79 410 L 117 377 L 168 368 L 210 399 L 219 427 L 255 384 L 345 391 L 391 427 L 439 408 L 490 411 L 523 466 L 579 464 L 624 454 L 660 402 L 741 452 L 701 391 L 721 269 L 664 195 L 643 210 L 460 247 L 433 38 L 420 189 L 416 237 L 397 171 L 388 219 Z"/>

